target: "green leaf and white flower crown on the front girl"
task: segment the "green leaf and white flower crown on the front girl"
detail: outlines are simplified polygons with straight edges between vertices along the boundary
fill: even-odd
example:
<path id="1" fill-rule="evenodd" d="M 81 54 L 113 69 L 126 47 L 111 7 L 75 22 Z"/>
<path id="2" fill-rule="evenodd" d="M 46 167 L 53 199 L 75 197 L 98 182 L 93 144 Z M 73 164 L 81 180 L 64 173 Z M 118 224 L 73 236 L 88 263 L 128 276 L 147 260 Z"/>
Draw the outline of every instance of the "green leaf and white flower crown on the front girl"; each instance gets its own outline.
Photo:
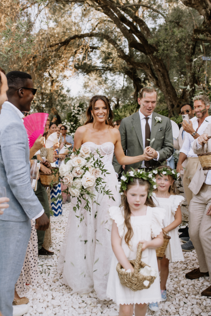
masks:
<path id="1" fill-rule="evenodd" d="M 124 191 L 127 190 L 127 183 L 129 180 L 133 181 L 133 178 L 139 178 L 139 179 L 144 179 L 149 181 L 150 183 L 150 189 L 149 189 L 149 193 L 148 193 L 148 197 L 152 196 L 152 191 L 155 190 L 157 188 L 156 185 L 156 179 L 154 174 L 152 173 L 152 171 L 149 172 L 145 172 L 143 169 L 138 169 L 137 171 L 135 171 L 133 168 L 131 168 L 131 171 L 127 171 L 127 173 L 125 174 L 123 172 L 123 175 L 121 176 L 121 181 L 119 182 L 119 188 L 120 188 L 120 194 L 124 194 Z"/>

